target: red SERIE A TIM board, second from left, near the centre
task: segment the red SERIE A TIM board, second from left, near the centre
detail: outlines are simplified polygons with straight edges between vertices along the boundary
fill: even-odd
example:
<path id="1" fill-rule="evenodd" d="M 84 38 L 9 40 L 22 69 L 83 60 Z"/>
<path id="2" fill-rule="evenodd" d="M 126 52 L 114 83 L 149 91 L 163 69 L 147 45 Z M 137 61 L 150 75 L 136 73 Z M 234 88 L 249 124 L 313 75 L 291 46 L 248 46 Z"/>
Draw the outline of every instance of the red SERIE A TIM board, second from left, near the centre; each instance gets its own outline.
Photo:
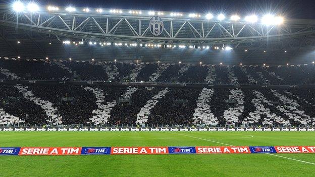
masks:
<path id="1" fill-rule="evenodd" d="M 112 147 L 111 154 L 168 154 L 168 147 Z"/>

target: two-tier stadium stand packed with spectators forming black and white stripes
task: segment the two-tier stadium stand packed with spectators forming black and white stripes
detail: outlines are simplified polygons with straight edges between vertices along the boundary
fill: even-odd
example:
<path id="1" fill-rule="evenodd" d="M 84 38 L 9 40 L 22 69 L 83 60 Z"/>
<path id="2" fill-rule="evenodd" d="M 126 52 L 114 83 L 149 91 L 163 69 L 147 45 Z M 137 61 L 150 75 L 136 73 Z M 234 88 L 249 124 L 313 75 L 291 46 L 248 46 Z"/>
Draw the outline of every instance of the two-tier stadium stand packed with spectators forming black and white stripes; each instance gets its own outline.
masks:
<path id="1" fill-rule="evenodd" d="M 0 60 L 6 80 L 314 84 L 314 66 Z M 291 73 L 287 75 L 285 73 Z M 308 78 L 308 79 L 303 79 Z M 315 126 L 311 89 L 1 85 L 0 126 Z"/>

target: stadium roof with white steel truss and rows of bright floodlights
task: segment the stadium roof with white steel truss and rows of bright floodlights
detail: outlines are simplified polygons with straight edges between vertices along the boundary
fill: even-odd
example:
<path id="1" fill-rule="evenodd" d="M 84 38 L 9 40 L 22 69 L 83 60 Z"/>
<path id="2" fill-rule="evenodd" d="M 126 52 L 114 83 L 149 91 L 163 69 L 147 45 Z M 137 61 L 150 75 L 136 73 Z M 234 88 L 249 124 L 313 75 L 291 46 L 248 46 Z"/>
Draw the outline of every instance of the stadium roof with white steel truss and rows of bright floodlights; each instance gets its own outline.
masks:
<path id="1" fill-rule="evenodd" d="M 220 14 L 38 8 L 17 13 L 12 5 L 0 5 L 0 55 L 213 64 L 298 64 L 314 58 L 315 20 L 284 18 L 281 23 L 277 15 L 226 14 L 222 19 Z M 160 36 L 149 30 L 154 15 L 164 23 Z"/>

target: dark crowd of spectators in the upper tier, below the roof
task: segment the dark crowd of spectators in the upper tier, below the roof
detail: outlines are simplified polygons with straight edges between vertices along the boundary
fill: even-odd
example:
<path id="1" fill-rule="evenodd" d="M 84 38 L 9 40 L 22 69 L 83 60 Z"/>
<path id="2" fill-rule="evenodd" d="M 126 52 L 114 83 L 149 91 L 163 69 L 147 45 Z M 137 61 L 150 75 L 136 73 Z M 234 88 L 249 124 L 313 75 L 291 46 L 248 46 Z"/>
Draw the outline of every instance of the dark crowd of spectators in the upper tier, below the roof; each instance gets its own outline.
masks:
<path id="1" fill-rule="evenodd" d="M 150 76 L 159 68 L 158 63 L 144 64 L 139 62 L 138 65 L 141 65 L 139 71 L 135 70 L 137 63 L 0 59 L 0 79 L 149 82 Z M 228 67 L 231 67 L 229 71 Z M 206 65 L 170 64 L 166 70 L 159 73 L 159 77 L 154 79 L 154 82 L 205 83 L 209 68 Z M 229 72 L 234 73 L 239 84 L 315 84 L 314 65 L 281 67 L 216 65 L 214 68 L 215 73 L 213 74 L 216 75 L 214 84 L 231 84 L 228 77 Z M 131 75 L 134 75 L 135 79 L 130 79 Z"/>

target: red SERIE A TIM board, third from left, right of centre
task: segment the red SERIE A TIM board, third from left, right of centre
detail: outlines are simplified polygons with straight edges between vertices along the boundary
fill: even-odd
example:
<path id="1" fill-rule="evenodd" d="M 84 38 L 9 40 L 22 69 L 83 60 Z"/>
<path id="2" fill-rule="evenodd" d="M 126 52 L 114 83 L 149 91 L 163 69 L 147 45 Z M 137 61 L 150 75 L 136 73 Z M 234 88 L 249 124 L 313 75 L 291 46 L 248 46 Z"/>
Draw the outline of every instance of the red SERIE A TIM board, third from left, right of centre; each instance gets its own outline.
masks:
<path id="1" fill-rule="evenodd" d="M 248 154 L 247 146 L 196 146 L 197 154 Z"/>

